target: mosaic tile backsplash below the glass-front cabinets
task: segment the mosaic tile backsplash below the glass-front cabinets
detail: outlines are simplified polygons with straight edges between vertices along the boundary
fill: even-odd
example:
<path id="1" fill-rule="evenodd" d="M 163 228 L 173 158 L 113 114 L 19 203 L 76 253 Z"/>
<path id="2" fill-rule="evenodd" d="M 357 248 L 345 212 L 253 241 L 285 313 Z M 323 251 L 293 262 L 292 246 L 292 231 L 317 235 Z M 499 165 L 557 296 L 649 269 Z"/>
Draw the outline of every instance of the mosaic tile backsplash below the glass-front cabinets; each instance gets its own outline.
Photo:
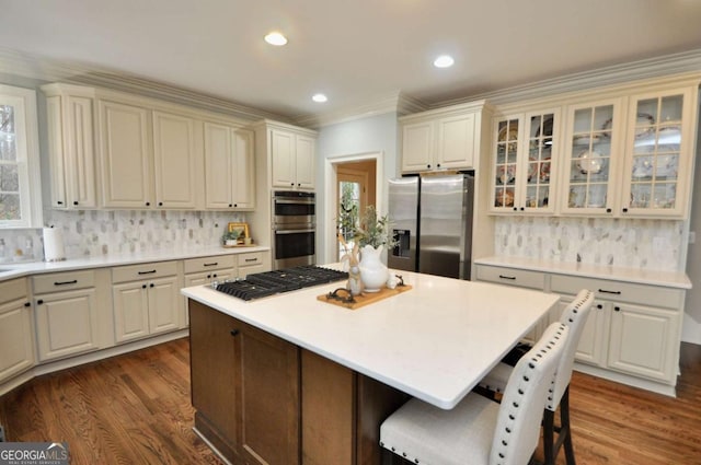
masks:
<path id="1" fill-rule="evenodd" d="M 611 218 L 499 217 L 495 255 L 676 271 L 683 222 Z"/>

